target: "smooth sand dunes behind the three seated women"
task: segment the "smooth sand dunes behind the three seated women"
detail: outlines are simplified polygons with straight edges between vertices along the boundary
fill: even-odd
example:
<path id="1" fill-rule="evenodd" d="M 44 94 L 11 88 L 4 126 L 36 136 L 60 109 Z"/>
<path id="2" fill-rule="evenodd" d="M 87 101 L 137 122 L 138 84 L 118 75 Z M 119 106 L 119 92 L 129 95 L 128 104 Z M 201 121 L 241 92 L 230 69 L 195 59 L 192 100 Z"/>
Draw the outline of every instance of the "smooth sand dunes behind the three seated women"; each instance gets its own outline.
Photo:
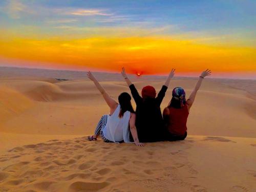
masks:
<path id="1" fill-rule="evenodd" d="M 137 82 L 139 90 L 153 84 L 159 90 L 162 82 Z M 187 95 L 196 81 L 174 80 L 172 87 L 182 86 Z M 121 92 L 130 92 L 123 82 L 102 82 L 104 88 L 117 99 Z M 90 81 L 73 80 L 50 83 L 45 81 L 1 81 L 5 97 L 16 94 L 26 110 L 22 114 L 3 114 L 1 130 L 23 134 L 90 134 L 102 114 L 108 113 L 102 96 Z M 171 98 L 170 88 L 162 103 L 162 109 Z M 219 82 L 205 81 L 199 91 L 188 119 L 190 135 L 216 135 L 231 137 L 256 137 L 256 102 L 247 92 L 232 89 Z M 38 102 L 43 101 L 43 102 Z M 32 104 L 33 103 L 33 104 Z M 135 103 L 133 102 L 134 106 Z M 16 104 L 17 105 L 17 104 Z M 17 106 L 22 107 L 22 105 Z M 5 109 L 8 108 L 5 106 Z M 2 113 L 4 110 L 1 110 Z M 12 108 L 10 106 L 9 110 Z M 8 116 L 8 117 L 7 117 Z M 235 120 L 234 120 L 235 119 Z M 27 123 L 27 122 L 30 123 Z M 214 125 L 212 124 L 214 123 Z M 60 134 L 59 134 L 60 133 Z"/>

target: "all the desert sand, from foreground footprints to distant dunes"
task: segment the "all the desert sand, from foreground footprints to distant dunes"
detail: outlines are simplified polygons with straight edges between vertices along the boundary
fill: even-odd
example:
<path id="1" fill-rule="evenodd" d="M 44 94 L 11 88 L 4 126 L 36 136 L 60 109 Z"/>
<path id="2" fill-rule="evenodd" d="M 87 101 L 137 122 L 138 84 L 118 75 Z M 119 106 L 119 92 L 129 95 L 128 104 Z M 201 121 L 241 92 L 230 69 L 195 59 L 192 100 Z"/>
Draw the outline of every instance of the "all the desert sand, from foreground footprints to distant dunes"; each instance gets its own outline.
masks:
<path id="1" fill-rule="evenodd" d="M 106 77 L 101 83 L 113 98 L 129 92 Z M 162 83 L 135 82 L 139 90 L 147 84 L 160 90 Z M 172 88 L 189 94 L 195 83 L 175 78 L 161 108 Z M 136 147 L 86 139 L 108 113 L 88 79 L 2 77 L 0 191 L 255 191 L 256 101 L 228 83 L 203 82 L 186 140 Z"/>

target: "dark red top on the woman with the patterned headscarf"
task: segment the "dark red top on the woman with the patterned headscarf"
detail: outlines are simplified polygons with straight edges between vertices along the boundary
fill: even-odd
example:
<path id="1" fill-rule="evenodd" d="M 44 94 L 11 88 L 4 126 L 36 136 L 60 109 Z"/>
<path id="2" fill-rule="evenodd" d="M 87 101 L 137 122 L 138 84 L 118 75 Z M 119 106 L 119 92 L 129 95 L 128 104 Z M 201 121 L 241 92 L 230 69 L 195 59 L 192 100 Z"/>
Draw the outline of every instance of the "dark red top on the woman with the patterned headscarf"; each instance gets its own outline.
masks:
<path id="1" fill-rule="evenodd" d="M 169 115 L 167 115 L 167 129 L 171 134 L 183 136 L 187 131 L 187 117 L 188 109 L 187 104 L 181 109 L 168 108 Z"/>

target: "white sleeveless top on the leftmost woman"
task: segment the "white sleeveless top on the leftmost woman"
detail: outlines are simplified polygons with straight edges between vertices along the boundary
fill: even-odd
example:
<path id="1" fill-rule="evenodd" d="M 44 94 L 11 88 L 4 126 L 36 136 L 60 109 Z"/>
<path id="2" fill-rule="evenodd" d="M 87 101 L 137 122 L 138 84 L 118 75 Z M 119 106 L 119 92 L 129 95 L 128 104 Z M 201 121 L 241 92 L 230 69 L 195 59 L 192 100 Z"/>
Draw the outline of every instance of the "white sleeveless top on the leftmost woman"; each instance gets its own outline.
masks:
<path id="1" fill-rule="evenodd" d="M 131 117 L 131 112 L 126 111 L 123 117 L 119 118 L 120 104 L 118 104 L 115 112 L 108 116 L 108 121 L 103 127 L 102 132 L 106 139 L 119 142 L 124 141 L 125 143 L 130 142 L 130 131 L 129 122 Z"/>

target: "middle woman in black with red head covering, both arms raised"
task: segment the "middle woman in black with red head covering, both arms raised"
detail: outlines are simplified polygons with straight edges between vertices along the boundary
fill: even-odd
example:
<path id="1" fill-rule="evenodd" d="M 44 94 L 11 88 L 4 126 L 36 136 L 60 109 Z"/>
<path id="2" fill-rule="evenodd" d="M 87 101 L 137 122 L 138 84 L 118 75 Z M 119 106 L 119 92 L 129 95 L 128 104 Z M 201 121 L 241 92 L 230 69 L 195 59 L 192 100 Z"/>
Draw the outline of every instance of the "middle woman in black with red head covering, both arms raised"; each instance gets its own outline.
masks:
<path id="1" fill-rule="evenodd" d="M 157 97 L 156 90 L 152 86 L 144 87 L 142 89 L 141 97 L 134 84 L 127 77 L 125 69 L 122 68 L 121 74 L 129 86 L 137 105 L 135 125 L 141 142 L 156 142 L 164 140 L 164 123 L 160 105 L 165 96 L 170 79 L 174 76 L 174 72 L 175 69 L 170 72 Z"/>

